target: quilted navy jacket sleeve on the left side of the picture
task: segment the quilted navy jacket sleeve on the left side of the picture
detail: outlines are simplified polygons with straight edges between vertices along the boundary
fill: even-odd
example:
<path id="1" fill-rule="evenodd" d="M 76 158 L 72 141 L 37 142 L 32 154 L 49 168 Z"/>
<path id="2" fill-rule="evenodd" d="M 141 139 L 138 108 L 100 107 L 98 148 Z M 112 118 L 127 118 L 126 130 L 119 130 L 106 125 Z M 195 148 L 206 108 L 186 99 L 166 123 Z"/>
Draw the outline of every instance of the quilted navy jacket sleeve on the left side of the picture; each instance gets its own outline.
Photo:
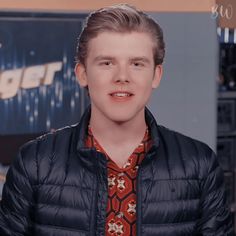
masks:
<path id="1" fill-rule="evenodd" d="M 27 157 L 32 155 L 29 151 L 24 153 Z M 21 150 L 7 173 L 0 205 L 1 236 L 30 235 L 33 190 L 24 161 Z"/>

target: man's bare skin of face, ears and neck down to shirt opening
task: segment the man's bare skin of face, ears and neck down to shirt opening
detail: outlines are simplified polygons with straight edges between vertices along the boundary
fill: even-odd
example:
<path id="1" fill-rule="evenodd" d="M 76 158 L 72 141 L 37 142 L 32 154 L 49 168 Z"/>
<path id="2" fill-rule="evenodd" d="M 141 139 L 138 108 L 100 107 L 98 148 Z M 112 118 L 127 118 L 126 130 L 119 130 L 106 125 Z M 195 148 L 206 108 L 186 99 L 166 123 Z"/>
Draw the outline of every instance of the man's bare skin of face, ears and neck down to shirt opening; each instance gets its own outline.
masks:
<path id="1" fill-rule="evenodd" d="M 93 135 L 118 166 L 143 139 L 145 106 L 162 77 L 153 46 L 147 33 L 103 32 L 90 40 L 86 65 L 75 68 L 80 86 L 89 89 Z M 124 91 L 131 96 L 114 96 Z"/>

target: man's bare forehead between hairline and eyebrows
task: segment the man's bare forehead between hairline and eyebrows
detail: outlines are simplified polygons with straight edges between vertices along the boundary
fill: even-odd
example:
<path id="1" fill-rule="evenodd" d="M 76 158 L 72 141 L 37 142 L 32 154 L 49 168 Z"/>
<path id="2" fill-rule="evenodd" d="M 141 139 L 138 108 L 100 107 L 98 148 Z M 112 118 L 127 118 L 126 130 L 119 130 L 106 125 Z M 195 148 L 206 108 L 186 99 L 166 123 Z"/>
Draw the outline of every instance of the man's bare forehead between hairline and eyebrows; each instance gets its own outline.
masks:
<path id="1" fill-rule="evenodd" d="M 150 34 L 144 32 L 116 33 L 103 32 L 88 44 L 88 58 L 100 55 L 122 57 L 153 58 L 154 42 Z"/>

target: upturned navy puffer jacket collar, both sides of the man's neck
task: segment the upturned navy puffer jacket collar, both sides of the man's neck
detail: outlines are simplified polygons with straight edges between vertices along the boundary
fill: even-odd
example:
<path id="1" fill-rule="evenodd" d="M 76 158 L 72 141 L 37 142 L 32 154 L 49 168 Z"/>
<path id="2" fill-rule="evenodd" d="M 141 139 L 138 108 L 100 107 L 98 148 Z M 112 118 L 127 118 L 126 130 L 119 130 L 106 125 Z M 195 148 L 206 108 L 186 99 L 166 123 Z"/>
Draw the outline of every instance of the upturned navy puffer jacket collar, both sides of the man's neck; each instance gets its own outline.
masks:
<path id="1" fill-rule="evenodd" d="M 86 149 L 84 144 L 85 144 L 85 140 L 88 133 L 88 125 L 89 125 L 90 116 L 91 116 L 91 105 L 89 105 L 86 108 L 77 126 L 77 137 L 78 137 L 77 150 Z M 152 148 L 157 148 L 160 142 L 158 125 L 156 123 L 154 116 L 152 115 L 152 113 L 149 111 L 147 107 L 145 107 L 145 120 L 149 128 L 149 131 L 151 133 L 151 138 L 153 141 Z"/>

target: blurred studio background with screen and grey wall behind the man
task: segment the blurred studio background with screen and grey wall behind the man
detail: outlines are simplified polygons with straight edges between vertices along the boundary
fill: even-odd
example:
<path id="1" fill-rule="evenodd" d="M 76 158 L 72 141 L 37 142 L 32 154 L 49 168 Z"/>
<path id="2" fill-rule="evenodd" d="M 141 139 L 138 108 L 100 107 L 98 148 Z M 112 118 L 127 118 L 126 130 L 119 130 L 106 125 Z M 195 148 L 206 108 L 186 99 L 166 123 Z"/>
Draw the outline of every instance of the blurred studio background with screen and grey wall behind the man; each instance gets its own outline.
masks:
<path id="1" fill-rule="evenodd" d="M 149 108 L 159 124 L 217 152 L 234 213 L 236 1 L 125 2 L 164 31 L 164 77 Z M 0 0 L 0 195 L 22 144 L 79 121 L 89 100 L 73 73 L 76 39 L 89 12 L 115 3 Z"/>

